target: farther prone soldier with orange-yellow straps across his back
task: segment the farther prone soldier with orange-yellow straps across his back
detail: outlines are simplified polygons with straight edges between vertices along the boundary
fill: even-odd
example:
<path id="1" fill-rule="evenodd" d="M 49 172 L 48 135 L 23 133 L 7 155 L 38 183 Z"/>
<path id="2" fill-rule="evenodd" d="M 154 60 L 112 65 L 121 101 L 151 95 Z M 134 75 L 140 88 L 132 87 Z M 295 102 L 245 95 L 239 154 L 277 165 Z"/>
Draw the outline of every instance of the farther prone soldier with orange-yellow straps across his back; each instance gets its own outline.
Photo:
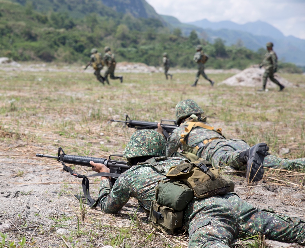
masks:
<path id="1" fill-rule="evenodd" d="M 244 140 L 225 139 L 221 129 L 215 129 L 206 122 L 205 118 L 201 119 L 203 112 L 202 108 L 191 99 L 180 101 L 176 105 L 176 122 L 180 126 L 173 130 L 166 142 L 167 156 L 184 156 L 188 159 L 195 156 L 195 160 L 201 157 L 214 166 L 232 166 L 237 170 L 247 166 L 247 181 L 251 182 L 252 179 L 259 181 L 263 177 L 263 167 L 260 167 L 260 162 L 261 153 L 264 152 L 262 144 L 265 143 L 256 144 L 251 149 Z M 188 132 L 185 131 L 186 128 Z M 162 133 L 162 128 L 158 127 L 157 131 Z M 183 151 L 178 153 L 178 148 Z M 253 159 L 251 160 L 249 156 L 255 157 L 253 164 Z M 263 166 L 287 170 L 303 169 L 305 158 L 288 160 L 268 155 L 263 159 Z"/>

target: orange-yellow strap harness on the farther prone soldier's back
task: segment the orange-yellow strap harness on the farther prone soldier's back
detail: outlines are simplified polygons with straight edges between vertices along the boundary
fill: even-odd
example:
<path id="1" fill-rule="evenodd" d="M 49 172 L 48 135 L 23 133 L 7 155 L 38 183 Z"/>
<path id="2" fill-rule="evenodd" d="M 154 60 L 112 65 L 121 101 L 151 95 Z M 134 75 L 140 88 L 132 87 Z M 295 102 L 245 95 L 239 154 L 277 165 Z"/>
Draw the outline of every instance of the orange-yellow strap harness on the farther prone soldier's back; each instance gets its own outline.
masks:
<path id="1" fill-rule="evenodd" d="M 219 133 L 221 136 L 223 136 L 222 133 L 221 133 L 221 130 L 222 130 L 221 128 L 215 129 L 212 126 L 206 125 L 204 122 L 197 122 L 194 119 L 191 120 L 191 121 L 186 121 L 182 125 L 183 126 L 187 125 L 187 127 L 185 127 L 185 132 L 181 134 L 181 139 L 179 140 L 182 144 L 182 151 L 180 153 L 174 152 L 171 156 L 175 156 L 178 153 L 178 154 L 182 155 L 183 157 L 186 157 L 187 159 L 191 160 L 191 162 L 194 162 L 194 161 L 198 160 L 198 158 L 199 158 L 198 150 L 200 148 L 204 147 L 205 144 L 209 143 L 212 140 L 218 140 L 219 139 L 218 137 L 214 137 L 214 138 L 211 138 L 209 140 L 203 140 L 202 142 L 200 142 L 195 147 L 189 146 L 186 143 L 186 139 L 189 136 L 192 128 L 199 126 L 201 128 L 204 128 L 204 129 L 209 129 L 209 130 L 215 131 L 216 133 Z"/>

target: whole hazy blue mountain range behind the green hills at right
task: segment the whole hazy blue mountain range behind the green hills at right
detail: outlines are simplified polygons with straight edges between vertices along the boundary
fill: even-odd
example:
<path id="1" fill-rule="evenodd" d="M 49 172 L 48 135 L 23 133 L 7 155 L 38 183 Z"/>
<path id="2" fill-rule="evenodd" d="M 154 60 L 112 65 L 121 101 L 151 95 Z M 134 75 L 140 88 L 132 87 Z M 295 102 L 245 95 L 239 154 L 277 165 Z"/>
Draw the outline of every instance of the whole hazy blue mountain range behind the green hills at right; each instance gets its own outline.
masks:
<path id="1" fill-rule="evenodd" d="M 216 38 L 221 38 L 226 46 L 231 46 L 241 40 L 246 48 L 257 51 L 260 48 L 265 49 L 266 43 L 271 41 L 280 60 L 305 66 L 305 40 L 294 36 L 286 37 L 277 28 L 265 22 L 241 25 L 231 21 L 214 23 L 203 19 L 185 24 L 172 16 L 162 15 L 162 18 L 169 23 L 169 27 L 180 28 L 183 35 L 187 36 L 191 30 L 196 30 L 200 38 L 211 43 Z"/>

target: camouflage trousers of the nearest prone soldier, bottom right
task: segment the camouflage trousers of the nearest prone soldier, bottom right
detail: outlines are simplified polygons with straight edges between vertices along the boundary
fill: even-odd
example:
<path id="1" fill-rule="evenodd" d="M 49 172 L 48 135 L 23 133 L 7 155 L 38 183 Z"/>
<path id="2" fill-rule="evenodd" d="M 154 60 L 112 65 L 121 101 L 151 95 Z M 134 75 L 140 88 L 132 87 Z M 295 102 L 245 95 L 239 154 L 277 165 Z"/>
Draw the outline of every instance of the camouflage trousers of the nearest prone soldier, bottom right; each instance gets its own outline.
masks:
<path id="1" fill-rule="evenodd" d="M 259 210 L 228 193 L 193 200 L 187 207 L 189 248 L 229 248 L 233 239 L 252 235 L 305 245 L 305 222 L 300 218 Z"/>

